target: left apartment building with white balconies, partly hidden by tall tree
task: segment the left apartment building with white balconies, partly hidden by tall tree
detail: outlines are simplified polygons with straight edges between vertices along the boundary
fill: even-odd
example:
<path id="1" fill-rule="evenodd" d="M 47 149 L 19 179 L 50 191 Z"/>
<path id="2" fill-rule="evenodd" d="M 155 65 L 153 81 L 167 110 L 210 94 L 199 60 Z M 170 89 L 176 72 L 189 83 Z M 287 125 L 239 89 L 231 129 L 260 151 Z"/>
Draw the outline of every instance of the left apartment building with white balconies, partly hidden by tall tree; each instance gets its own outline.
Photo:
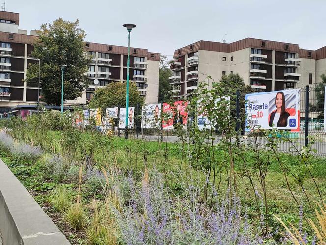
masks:
<path id="1" fill-rule="evenodd" d="M 19 13 L 0 11 L 0 113 L 17 105 L 36 105 L 38 83 L 26 83 L 26 70 L 38 62 L 31 56 L 37 32 L 19 29 Z M 131 48 L 130 80 L 135 81 L 146 103 L 157 103 L 159 88 L 159 53 Z M 86 105 L 96 88 L 127 78 L 128 48 L 109 44 L 85 43 L 85 53 L 92 58 L 87 77 L 92 85 L 81 97 L 64 105 Z M 93 81 L 99 80 L 95 86 Z M 42 93 L 42 91 L 41 91 Z"/>

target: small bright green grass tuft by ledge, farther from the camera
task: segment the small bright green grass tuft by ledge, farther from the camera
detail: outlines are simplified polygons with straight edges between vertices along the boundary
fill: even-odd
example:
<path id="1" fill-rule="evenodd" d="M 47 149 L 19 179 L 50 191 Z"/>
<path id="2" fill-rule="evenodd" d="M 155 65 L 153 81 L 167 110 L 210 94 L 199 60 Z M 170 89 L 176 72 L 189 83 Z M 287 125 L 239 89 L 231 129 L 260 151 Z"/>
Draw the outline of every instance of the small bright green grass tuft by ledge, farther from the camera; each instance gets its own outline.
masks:
<path id="1" fill-rule="evenodd" d="M 50 203 L 61 213 L 65 213 L 71 207 L 71 201 L 72 196 L 66 184 L 58 186 L 50 196 Z"/>

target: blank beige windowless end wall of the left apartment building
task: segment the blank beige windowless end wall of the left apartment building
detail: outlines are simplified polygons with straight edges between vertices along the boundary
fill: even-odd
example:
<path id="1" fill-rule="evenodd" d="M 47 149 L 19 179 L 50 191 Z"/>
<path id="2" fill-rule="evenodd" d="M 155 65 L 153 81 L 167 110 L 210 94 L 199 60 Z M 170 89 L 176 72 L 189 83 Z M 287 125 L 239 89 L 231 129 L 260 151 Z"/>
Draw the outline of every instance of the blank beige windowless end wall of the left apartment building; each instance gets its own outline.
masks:
<path id="1" fill-rule="evenodd" d="M 145 75 L 147 76 L 147 94 L 145 103 L 146 104 L 154 104 L 158 103 L 159 99 L 159 61 L 151 61 L 147 60 L 148 65 L 145 71 Z"/>

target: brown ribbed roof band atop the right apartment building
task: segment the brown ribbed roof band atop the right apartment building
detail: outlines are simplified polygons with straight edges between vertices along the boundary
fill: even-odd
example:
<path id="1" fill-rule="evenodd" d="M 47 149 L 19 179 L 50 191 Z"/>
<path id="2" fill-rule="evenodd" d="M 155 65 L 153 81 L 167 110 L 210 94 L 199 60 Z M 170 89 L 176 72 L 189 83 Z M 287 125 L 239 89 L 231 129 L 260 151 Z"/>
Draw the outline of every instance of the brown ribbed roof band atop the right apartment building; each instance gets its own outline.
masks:
<path id="1" fill-rule="evenodd" d="M 265 42 L 265 47 L 262 47 L 263 41 Z M 285 49 L 285 44 L 289 45 L 289 49 Z M 191 50 L 190 50 L 190 46 L 193 46 Z M 198 50 L 230 53 L 245 48 L 259 48 L 259 49 L 299 53 L 298 44 L 269 41 L 264 39 L 245 38 L 232 43 L 210 42 L 210 41 L 201 40 L 193 44 L 187 45 L 181 49 L 175 50 L 174 58 L 178 58 L 184 56 L 185 54 L 196 52 Z"/>

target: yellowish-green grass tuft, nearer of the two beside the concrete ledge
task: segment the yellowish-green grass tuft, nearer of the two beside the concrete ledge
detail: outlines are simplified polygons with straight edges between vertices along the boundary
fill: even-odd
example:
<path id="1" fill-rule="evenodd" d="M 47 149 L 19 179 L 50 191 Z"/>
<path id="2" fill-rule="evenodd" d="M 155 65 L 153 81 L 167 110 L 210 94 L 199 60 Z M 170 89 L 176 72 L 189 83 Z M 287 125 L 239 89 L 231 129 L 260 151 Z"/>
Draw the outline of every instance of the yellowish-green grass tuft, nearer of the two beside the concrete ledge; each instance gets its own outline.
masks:
<path id="1" fill-rule="evenodd" d="M 85 207 L 81 202 L 74 203 L 63 213 L 64 220 L 75 230 L 81 230 L 85 223 Z"/>

